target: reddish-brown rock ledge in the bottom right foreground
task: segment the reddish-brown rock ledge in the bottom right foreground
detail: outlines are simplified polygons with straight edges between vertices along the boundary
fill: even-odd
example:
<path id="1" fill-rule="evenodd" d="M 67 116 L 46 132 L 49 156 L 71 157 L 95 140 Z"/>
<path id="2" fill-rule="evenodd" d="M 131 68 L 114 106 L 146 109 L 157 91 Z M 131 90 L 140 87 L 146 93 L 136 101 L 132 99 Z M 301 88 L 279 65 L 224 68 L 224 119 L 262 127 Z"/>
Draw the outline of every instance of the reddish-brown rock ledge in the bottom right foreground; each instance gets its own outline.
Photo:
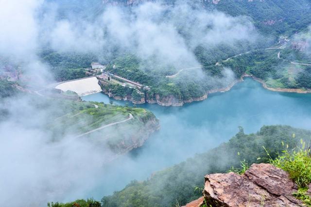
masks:
<path id="1" fill-rule="evenodd" d="M 271 164 L 253 164 L 243 175 L 206 175 L 203 197 L 186 207 L 303 206 L 293 196 L 295 191 L 297 187 L 287 172 Z"/>

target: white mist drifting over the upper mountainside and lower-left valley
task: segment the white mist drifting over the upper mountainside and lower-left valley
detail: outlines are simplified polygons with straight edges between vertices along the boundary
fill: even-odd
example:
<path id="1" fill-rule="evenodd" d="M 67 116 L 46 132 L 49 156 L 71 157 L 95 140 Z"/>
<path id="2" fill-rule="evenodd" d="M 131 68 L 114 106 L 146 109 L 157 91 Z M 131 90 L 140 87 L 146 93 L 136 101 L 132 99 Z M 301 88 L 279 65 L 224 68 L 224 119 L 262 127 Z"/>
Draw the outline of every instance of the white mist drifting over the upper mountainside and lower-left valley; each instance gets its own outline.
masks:
<path id="1" fill-rule="evenodd" d="M 59 53 L 94 53 L 104 63 L 110 61 L 106 57 L 118 48 L 134 53 L 142 60 L 154 58 L 161 64 L 179 69 L 199 65 L 193 53 L 197 46 L 235 46 L 237 41 L 255 42 L 258 35 L 245 16 L 207 12 L 183 1 L 173 7 L 161 2 L 147 2 L 130 10 L 107 6 L 99 15 L 85 19 L 74 15 L 59 16 L 61 5 L 57 2 L 0 0 L 0 4 L 0 57 L 5 60 L 4 65 L 18 65 L 23 81 L 41 86 L 53 81 L 50 66 L 39 56 L 46 48 Z M 0 65 L 3 70 L 3 63 Z M 233 79 L 230 69 L 225 69 L 224 73 L 226 80 Z M 106 174 L 120 178 L 118 172 L 111 172 L 111 169 L 118 169 L 108 168 L 105 163 L 113 154 L 106 148 L 100 149 L 88 140 L 72 139 L 72 131 L 55 141 L 47 125 L 51 117 L 56 118 L 53 114 L 62 110 L 62 105 L 49 103 L 49 99 L 41 102 L 36 96 L 25 93 L 0 100 L 0 109 L 7 114 L 0 119 L 3 120 L 0 122 L 0 206 L 45 206 L 48 201 L 85 198 L 89 191 L 99 186 L 98 180 Z M 162 123 L 173 119 L 169 117 Z M 223 127 L 219 125 L 217 129 Z M 184 123 L 174 127 L 182 129 L 186 126 Z M 233 133 L 234 130 L 230 131 Z M 181 136 L 180 133 L 163 132 L 162 140 L 156 140 L 156 153 L 165 154 L 169 150 L 168 155 L 175 154 L 175 159 L 151 163 L 153 167 L 143 170 L 136 178 L 144 178 L 151 170 L 162 169 L 191 156 L 201 141 L 216 136 L 204 126 L 192 126 L 186 134 L 198 138 L 193 143 L 187 142 L 191 143 L 191 153 L 185 155 L 180 150 L 186 140 L 173 139 L 173 136 Z M 166 136 L 171 137 L 168 139 L 170 143 L 161 147 Z M 208 144 L 220 143 L 220 136 L 218 138 Z M 172 148 L 168 149 L 168 145 Z M 124 155 L 122 159 L 127 161 L 122 173 L 148 169 L 147 160 L 153 160 L 156 153 L 144 157 L 146 162 Z M 125 180 L 132 179 L 132 176 Z M 119 185 L 105 186 L 98 194 L 120 190 L 126 185 L 124 179 L 120 182 Z"/>

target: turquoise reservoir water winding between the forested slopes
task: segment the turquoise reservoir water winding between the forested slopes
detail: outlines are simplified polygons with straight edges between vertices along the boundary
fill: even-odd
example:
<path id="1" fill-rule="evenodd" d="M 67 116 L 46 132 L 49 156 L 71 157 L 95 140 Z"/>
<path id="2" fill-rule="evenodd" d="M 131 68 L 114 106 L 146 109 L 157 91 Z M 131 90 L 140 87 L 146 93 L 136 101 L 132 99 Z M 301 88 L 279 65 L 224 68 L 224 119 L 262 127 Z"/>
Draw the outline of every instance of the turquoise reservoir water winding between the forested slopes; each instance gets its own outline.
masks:
<path id="1" fill-rule="evenodd" d="M 104 103 L 113 100 L 102 93 L 82 99 Z M 274 124 L 311 129 L 311 94 L 268 91 L 251 78 L 245 78 L 228 92 L 211 94 L 204 101 L 183 107 L 156 104 L 138 107 L 152 111 L 160 120 L 161 129 L 142 147 L 105 166 L 98 186 L 86 197 L 101 199 L 121 190 L 133 179 L 146 179 L 155 171 L 216 147 L 234 136 L 239 126 L 245 133 Z"/>

